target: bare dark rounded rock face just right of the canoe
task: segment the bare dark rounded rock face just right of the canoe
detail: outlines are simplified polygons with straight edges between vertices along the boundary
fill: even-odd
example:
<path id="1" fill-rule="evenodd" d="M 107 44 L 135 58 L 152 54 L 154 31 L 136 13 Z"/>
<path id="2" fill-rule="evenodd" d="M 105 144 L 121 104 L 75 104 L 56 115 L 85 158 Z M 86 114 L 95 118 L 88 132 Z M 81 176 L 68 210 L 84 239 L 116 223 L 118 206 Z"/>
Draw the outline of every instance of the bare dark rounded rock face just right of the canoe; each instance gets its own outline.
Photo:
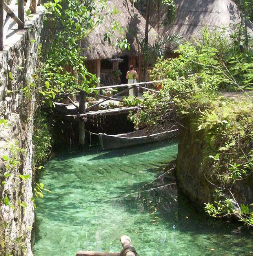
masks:
<path id="1" fill-rule="evenodd" d="M 180 128 L 178 139 L 177 179 L 184 193 L 199 208 L 213 200 L 214 188 L 204 176 L 202 162 L 207 144 L 203 132 L 189 124 Z M 206 171 L 206 170 L 204 170 Z"/>

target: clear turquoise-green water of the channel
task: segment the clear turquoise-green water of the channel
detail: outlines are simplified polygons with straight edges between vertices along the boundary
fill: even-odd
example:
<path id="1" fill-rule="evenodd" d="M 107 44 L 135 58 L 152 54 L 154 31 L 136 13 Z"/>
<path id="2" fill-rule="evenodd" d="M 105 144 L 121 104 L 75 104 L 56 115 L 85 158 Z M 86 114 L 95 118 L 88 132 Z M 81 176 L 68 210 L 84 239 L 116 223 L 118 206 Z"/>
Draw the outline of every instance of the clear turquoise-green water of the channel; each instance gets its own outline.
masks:
<path id="1" fill-rule="evenodd" d="M 204 218 L 175 185 L 127 196 L 164 185 L 146 184 L 176 154 L 177 144 L 165 143 L 49 161 L 40 181 L 52 194 L 36 202 L 35 256 L 120 251 L 123 234 L 140 256 L 252 256 L 252 231 L 238 235 L 237 226 Z"/>

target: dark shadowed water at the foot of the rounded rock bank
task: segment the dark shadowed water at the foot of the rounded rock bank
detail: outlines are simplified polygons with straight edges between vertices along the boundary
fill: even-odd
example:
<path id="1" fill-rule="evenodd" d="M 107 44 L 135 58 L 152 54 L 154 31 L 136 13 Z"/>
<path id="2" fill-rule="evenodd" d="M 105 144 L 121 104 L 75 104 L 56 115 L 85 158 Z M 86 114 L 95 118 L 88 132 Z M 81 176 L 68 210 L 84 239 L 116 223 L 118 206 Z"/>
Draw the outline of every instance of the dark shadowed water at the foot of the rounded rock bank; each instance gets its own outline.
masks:
<path id="1" fill-rule="evenodd" d="M 164 188 L 159 188 L 166 184 L 172 184 Z M 173 225 L 180 232 L 191 234 L 228 234 L 241 227 L 239 223 L 222 221 L 213 219 L 205 214 L 198 212 L 193 204 L 184 196 L 180 188 L 177 187 L 174 180 L 166 180 L 166 183 L 154 182 L 149 187 L 143 188 L 145 183 L 135 184 L 129 190 L 143 191 L 153 188 L 151 191 L 136 192 L 135 195 L 127 197 L 118 197 L 112 199 L 112 205 L 124 205 L 125 209 L 136 214 L 136 211 L 142 210 L 152 214 L 154 218 L 158 216 L 168 224 L 169 229 L 173 229 Z M 142 189 L 140 189 L 142 188 Z M 141 205 L 141 207 L 140 207 Z M 158 219 L 157 218 L 157 219 Z M 251 230 L 243 229 L 240 233 L 248 235 Z"/>

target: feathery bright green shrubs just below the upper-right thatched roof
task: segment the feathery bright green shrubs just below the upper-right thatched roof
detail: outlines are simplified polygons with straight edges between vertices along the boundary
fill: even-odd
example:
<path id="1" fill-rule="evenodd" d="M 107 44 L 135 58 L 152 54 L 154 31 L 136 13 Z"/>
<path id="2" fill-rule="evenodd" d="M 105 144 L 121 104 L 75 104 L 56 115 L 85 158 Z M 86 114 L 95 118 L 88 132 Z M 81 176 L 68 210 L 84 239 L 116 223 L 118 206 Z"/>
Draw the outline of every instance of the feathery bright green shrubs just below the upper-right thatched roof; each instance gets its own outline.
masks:
<path id="1" fill-rule="evenodd" d="M 205 28 L 202 40 L 195 40 L 195 44 L 186 42 L 175 52 L 179 53 L 178 58 L 157 62 L 153 79 L 187 79 L 189 75 L 204 72 L 216 77 L 219 88 L 230 91 L 253 88 L 253 54 L 235 51 L 225 30 L 209 32 Z"/>

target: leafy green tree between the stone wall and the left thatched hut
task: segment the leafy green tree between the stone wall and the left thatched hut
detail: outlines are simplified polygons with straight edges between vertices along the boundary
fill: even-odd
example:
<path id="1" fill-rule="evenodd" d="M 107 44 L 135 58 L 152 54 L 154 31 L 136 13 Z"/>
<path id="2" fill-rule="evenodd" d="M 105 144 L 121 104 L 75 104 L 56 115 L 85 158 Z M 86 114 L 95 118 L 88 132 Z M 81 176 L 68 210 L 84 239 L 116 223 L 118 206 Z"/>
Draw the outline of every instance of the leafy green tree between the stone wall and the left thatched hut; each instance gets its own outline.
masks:
<path id="1" fill-rule="evenodd" d="M 37 74 L 32 86 L 38 91 L 39 101 L 51 107 L 57 94 L 90 92 L 98 84 L 96 76 L 84 66 L 86 57 L 82 56 L 81 40 L 102 21 L 100 14 L 104 5 L 98 8 L 97 2 L 90 0 L 83 4 L 78 0 L 54 0 L 44 6 L 47 34 L 39 48 Z M 71 66 L 73 72 L 67 72 L 66 66 Z"/>

